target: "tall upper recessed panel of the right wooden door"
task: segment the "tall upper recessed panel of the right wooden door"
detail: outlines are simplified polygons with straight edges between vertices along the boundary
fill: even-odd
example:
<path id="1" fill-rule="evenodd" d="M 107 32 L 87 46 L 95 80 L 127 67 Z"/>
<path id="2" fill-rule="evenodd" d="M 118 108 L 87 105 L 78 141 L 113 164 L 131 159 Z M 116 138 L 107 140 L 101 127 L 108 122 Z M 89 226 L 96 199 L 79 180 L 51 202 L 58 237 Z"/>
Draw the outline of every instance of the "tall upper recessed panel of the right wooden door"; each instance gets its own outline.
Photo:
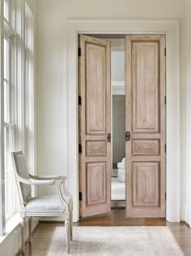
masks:
<path id="1" fill-rule="evenodd" d="M 159 131 L 158 63 L 159 42 L 133 42 L 133 132 Z"/>

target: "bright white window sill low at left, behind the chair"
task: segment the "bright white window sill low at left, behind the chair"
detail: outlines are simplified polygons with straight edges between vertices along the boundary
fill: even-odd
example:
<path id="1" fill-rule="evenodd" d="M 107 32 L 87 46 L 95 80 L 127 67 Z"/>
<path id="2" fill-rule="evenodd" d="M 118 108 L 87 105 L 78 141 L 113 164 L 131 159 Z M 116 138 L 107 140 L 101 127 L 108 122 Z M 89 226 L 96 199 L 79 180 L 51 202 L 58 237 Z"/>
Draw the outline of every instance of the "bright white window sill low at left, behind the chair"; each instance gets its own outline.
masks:
<path id="1" fill-rule="evenodd" d="M 6 234 L 4 236 L 0 236 L 0 245 L 6 240 L 6 237 L 11 234 L 19 226 L 20 223 L 20 215 L 19 213 L 13 215 L 11 219 L 6 221 Z"/>

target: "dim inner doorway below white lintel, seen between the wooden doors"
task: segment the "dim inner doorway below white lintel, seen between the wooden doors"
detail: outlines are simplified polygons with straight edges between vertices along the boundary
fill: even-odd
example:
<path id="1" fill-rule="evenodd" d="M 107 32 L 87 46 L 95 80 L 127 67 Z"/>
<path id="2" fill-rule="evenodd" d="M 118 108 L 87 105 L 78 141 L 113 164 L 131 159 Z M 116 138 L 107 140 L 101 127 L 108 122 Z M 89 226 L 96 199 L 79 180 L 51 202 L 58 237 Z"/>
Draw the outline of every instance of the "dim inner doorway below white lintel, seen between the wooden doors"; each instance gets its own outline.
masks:
<path id="1" fill-rule="evenodd" d="M 125 207 L 125 95 L 112 94 L 112 208 Z"/>

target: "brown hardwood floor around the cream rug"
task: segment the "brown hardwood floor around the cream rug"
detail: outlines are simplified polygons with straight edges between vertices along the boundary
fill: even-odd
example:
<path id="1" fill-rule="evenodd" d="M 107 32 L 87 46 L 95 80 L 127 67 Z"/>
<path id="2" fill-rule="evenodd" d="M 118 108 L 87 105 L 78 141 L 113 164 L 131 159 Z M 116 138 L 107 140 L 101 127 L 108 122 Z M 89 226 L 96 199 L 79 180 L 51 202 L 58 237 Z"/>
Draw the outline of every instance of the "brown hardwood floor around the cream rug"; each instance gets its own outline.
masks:
<path id="1" fill-rule="evenodd" d="M 32 243 L 27 244 L 26 256 L 45 256 L 51 240 L 53 230 L 63 223 L 40 222 L 39 227 L 32 236 Z M 86 219 L 75 223 L 79 226 L 168 226 L 176 241 L 185 252 L 191 256 L 191 229 L 185 223 L 168 223 L 165 219 L 126 219 L 124 209 L 113 209 L 111 214 Z M 21 256 L 22 254 L 19 254 Z"/>

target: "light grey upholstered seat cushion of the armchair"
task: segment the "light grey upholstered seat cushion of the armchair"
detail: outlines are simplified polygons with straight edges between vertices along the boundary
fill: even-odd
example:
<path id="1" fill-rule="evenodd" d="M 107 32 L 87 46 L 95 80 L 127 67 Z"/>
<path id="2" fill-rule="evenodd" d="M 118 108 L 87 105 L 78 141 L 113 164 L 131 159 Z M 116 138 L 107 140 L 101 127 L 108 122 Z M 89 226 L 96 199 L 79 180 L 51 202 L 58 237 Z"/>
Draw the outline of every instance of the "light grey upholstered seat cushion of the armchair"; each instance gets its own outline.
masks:
<path id="1" fill-rule="evenodd" d="M 64 212 L 65 206 L 57 195 L 32 197 L 26 204 L 27 212 Z"/>

